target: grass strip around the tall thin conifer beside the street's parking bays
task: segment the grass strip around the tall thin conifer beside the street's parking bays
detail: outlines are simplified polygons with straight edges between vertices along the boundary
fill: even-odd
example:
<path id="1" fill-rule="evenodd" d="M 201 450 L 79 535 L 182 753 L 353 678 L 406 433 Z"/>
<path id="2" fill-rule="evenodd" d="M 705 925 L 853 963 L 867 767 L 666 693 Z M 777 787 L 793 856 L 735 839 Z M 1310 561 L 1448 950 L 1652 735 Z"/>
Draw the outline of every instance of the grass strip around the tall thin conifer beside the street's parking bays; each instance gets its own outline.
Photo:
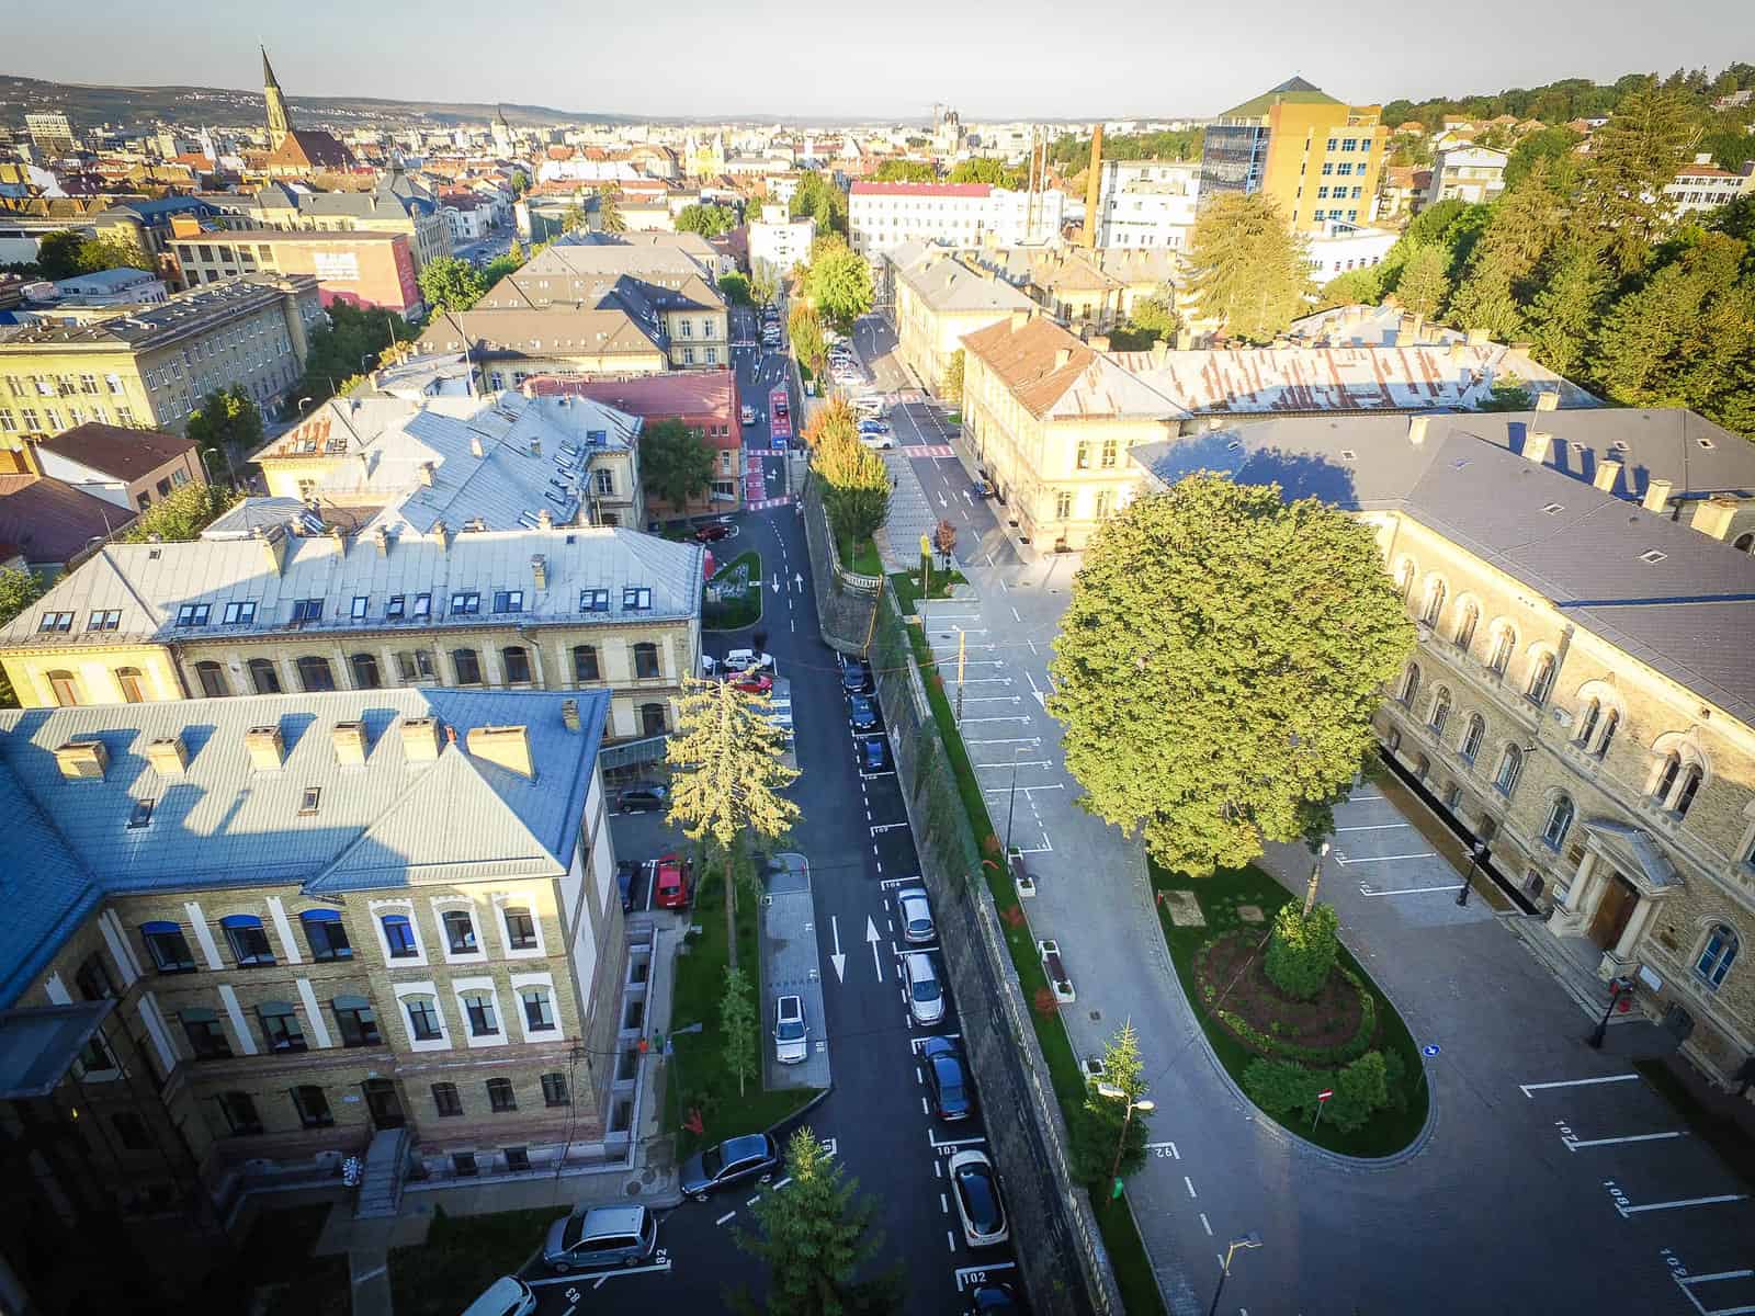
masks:
<path id="1" fill-rule="evenodd" d="M 688 1156 L 702 1146 L 721 1142 L 741 1134 L 760 1134 L 809 1102 L 816 1091 L 783 1088 L 765 1091 L 760 1072 L 751 1077 L 744 1093 L 737 1093 L 737 1077 L 725 1067 L 720 1042 L 720 998 L 725 995 L 725 883 L 721 874 L 706 879 L 706 890 L 697 897 L 691 918 L 700 925 L 700 935 L 688 939 L 688 953 L 676 962 L 676 988 L 670 1000 L 670 1026 L 704 1025 L 698 1033 L 672 1032 L 676 1055 L 665 1063 L 670 1072 L 665 1081 L 665 1118 L 677 1134 L 676 1155 Z M 748 895 L 737 907 L 737 967 L 755 983 L 760 974 L 756 962 L 756 904 Z M 767 1032 L 762 1039 L 765 1042 Z M 758 1055 L 760 1049 L 758 1049 Z M 683 1128 L 690 1111 L 700 1111 L 702 1132 Z"/>

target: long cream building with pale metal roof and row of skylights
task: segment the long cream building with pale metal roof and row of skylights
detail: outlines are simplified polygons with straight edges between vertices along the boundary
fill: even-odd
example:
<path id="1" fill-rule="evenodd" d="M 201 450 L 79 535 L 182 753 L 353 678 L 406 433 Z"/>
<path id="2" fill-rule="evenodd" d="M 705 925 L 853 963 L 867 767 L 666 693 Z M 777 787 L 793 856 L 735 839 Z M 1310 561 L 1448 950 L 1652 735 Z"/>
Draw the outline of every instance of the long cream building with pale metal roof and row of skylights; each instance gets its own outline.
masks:
<path id="1" fill-rule="evenodd" d="M 609 693 L 611 739 L 676 725 L 700 670 L 700 546 L 442 523 L 351 535 L 312 519 L 104 547 L 0 630 L 19 704 L 574 690 Z"/>

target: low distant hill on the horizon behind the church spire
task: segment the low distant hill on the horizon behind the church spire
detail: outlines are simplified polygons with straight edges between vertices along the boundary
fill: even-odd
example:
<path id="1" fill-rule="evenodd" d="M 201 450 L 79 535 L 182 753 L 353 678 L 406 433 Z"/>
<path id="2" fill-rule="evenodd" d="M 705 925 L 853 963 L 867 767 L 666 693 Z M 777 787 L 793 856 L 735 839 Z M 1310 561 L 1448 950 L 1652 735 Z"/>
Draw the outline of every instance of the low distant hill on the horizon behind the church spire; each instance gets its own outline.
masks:
<path id="1" fill-rule="evenodd" d="M 453 125 L 488 123 L 497 105 L 449 100 L 383 100 L 377 97 L 288 97 L 298 123 L 316 126 L 363 125 Z M 509 123 L 634 123 L 627 114 L 558 111 L 548 105 L 504 105 Z M 0 125 L 19 130 L 25 114 L 61 111 L 75 130 L 121 123 L 146 128 L 153 123 L 244 128 L 263 123 L 261 89 L 239 91 L 219 86 L 88 86 L 51 82 L 40 77 L 0 74 Z"/>

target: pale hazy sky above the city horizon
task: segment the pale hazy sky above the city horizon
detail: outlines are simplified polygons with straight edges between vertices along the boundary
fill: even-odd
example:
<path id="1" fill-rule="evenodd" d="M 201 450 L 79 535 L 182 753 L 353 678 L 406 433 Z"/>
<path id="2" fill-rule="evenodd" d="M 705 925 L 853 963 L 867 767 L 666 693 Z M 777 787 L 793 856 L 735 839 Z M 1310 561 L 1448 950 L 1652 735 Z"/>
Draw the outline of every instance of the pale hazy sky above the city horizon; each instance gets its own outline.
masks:
<path id="1" fill-rule="evenodd" d="M 1213 114 L 1300 74 L 1358 104 L 1755 60 L 1748 0 L 4 0 L 0 72 L 641 116 Z M 1743 32 L 1741 49 L 1727 42 Z"/>

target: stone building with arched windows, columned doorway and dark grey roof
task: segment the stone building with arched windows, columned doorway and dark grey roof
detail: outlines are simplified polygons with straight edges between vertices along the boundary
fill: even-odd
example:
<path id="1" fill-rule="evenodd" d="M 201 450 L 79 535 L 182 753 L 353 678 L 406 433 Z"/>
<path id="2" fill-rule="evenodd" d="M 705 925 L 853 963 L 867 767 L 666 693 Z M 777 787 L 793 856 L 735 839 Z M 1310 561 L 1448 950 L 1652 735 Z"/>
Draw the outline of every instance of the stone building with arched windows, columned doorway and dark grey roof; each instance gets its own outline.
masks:
<path id="1" fill-rule="evenodd" d="M 1272 419 L 1137 460 L 1157 486 L 1230 470 L 1376 530 L 1420 635 L 1385 751 L 1486 846 L 1544 958 L 1632 977 L 1732 1084 L 1755 1055 L 1755 561 L 1727 540 L 1755 456 L 1683 416 Z"/>

